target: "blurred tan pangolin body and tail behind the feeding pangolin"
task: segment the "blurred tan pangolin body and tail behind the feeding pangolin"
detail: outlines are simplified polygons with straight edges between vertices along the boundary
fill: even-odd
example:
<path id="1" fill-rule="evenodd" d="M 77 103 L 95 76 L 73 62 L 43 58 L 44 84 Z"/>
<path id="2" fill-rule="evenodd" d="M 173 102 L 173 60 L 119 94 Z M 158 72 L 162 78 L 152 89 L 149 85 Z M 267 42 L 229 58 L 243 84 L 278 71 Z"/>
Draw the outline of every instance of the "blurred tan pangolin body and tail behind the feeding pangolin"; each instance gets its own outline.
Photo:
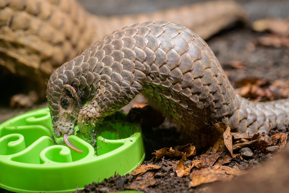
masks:
<path id="1" fill-rule="evenodd" d="M 101 17 L 86 12 L 75 0 L 0 0 L 0 65 L 14 74 L 36 80 L 41 87 L 56 67 L 120 27 L 170 20 L 208 38 L 244 18 L 244 10 L 234 1 Z"/>

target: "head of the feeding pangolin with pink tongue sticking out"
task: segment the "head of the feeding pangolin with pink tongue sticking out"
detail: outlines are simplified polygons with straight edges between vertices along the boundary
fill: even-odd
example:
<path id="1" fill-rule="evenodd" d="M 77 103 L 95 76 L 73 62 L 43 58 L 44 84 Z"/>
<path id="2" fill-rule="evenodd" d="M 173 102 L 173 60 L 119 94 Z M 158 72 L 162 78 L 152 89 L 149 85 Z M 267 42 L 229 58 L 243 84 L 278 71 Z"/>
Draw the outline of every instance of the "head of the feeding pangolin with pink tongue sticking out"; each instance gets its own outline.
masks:
<path id="1" fill-rule="evenodd" d="M 64 137 L 64 142 L 71 149 L 82 152 L 74 148 L 67 139 L 75 132 L 74 127 L 77 125 L 78 113 L 83 104 L 78 98 L 77 87 L 75 89 L 73 85 L 67 84 L 72 75 L 65 70 L 64 65 L 53 72 L 47 83 L 46 96 L 53 134 L 57 138 Z"/>

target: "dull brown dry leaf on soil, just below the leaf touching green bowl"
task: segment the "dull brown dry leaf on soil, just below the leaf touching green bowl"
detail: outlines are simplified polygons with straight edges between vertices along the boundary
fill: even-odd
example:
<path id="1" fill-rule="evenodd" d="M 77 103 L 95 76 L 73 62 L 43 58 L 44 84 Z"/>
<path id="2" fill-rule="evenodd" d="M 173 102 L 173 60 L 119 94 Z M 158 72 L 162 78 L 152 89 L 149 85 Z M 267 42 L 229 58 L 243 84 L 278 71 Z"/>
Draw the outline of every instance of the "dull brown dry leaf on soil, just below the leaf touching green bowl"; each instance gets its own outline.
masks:
<path id="1" fill-rule="evenodd" d="M 125 188 L 130 190 L 143 190 L 144 188 L 153 186 L 156 183 L 156 180 L 153 177 L 154 174 L 155 172 L 147 172 L 143 175 L 141 180 L 136 180 Z"/>

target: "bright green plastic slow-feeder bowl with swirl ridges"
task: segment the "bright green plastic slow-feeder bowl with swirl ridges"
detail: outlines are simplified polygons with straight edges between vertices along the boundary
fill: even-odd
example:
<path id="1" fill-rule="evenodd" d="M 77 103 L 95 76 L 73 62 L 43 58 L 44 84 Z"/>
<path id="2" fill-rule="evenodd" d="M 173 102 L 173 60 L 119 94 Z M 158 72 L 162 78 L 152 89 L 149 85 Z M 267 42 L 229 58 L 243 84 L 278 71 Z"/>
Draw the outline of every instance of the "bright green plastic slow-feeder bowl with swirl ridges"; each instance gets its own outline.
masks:
<path id="1" fill-rule="evenodd" d="M 48 108 L 18 115 L 0 124 L 0 187 L 13 192 L 73 192 L 134 170 L 144 160 L 141 127 L 103 121 L 92 140 L 75 132 L 68 140 L 83 153 L 51 138 Z"/>

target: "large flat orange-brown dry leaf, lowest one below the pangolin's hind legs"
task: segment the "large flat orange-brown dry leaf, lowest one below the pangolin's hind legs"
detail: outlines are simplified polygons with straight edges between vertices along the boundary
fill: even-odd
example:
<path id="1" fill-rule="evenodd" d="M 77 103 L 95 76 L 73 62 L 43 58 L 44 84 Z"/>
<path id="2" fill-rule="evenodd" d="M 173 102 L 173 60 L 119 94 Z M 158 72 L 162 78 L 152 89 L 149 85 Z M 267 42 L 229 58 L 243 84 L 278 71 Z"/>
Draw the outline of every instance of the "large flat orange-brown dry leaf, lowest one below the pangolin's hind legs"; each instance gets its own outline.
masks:
<path id="1" fill-rule="evenodd" d="M 238 168 L 230 168 L 228 166 L 221 166 L 218 169 L 201 168 L 200 170 L 193 170 L 190 174 L 190 187 L 195 187 L 203 183 L 210 183 L 218 180 L 228 181 L 235 176 L 244 174 L 244 171 Z"/>

